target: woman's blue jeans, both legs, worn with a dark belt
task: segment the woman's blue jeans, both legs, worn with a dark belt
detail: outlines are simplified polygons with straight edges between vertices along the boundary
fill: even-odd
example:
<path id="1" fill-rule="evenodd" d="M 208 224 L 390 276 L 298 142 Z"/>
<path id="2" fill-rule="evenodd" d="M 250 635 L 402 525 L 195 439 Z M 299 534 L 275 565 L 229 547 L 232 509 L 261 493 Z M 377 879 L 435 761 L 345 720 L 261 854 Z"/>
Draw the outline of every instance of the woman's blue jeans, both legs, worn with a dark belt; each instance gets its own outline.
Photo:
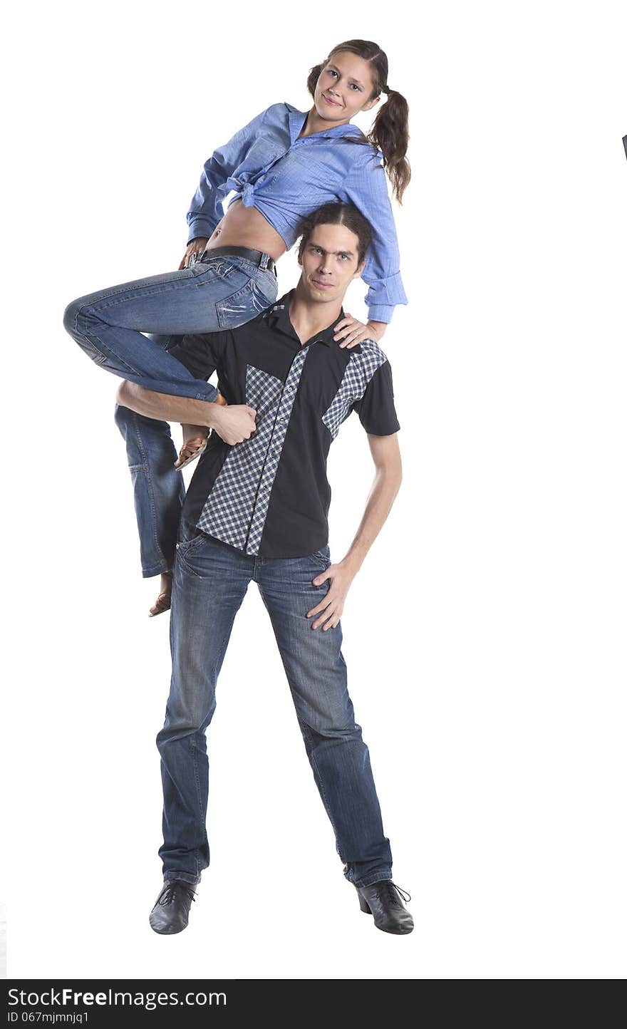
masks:
<path id="1" fill-rule="evenodd" d="M 235 254 L 206 250 L 190 268 L 126 282 L 68 305 L 64 324 L 96 364 L 156 393 L 215 400 L 217 390 L 195 379 L 169 353 L 185 333 L 236 328 L 277 297 L 277 279 L 264 254 L 257 265 Z M 116 405 L 126 439 L 139 529 L 142 574 L 169 571 L 180 508 L 182 475 L 167 422 Z"/>

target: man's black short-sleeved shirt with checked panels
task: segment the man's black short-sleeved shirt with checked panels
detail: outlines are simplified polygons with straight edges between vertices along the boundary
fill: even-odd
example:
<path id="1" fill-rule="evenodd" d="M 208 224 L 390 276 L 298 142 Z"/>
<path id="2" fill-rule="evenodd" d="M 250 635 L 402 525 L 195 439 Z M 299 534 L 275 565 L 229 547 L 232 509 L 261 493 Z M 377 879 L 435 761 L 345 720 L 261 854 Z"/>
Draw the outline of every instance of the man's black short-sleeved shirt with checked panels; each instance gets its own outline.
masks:
<path id="1" fill-rule="evenodd" d="M 217 369 L 229 404 L 256 410 L 249 439 L 230 446 L 211 432 L 182 517 L 264 558 L 305 557 L 326 545 L 326 458 L 351 411 L 374 435 L 399 429 L 381 348 L 373 341 L 341 348 L 334 340 L 340 318 L 302 346 L 289 320 L 292 292 L 240 328 L 186 335 L 170 350 L 198 379 Z"/>

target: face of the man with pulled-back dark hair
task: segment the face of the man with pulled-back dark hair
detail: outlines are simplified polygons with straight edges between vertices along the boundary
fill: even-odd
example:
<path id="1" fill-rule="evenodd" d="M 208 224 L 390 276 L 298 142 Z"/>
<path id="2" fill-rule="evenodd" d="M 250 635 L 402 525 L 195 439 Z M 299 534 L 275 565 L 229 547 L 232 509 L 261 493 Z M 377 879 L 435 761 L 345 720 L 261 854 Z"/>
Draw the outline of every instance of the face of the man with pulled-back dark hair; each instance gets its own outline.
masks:
<path id="1" fill-rule="evenodd" d="M 346 225 L 316 225 L 299 252 L 301 281 L 309 299 L 342 304 L 348 285 L 359 278 L 359 241 Z"/>

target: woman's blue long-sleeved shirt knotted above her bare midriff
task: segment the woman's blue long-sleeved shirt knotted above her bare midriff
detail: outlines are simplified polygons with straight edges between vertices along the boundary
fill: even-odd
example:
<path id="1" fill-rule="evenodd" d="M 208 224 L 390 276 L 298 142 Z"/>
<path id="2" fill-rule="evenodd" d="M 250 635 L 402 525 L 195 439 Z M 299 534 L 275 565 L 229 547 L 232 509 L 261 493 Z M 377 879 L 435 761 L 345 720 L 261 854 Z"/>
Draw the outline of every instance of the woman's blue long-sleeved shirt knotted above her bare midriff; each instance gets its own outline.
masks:
<path id="1" fill-rule="evenodd" d="M 362 274 L 369 318 L 389 322 L 394 306 L 408 301 L 381 153 L 350 123 L 299 139 L 307 114 L 273 104 L 214 151 L 187 212 L 188 241 L 212 235 L 232 190 L 233 200 L 260 211 L 287 247 L 304 214 L 332 201 L 354 204 L 373 227 Z"/>

